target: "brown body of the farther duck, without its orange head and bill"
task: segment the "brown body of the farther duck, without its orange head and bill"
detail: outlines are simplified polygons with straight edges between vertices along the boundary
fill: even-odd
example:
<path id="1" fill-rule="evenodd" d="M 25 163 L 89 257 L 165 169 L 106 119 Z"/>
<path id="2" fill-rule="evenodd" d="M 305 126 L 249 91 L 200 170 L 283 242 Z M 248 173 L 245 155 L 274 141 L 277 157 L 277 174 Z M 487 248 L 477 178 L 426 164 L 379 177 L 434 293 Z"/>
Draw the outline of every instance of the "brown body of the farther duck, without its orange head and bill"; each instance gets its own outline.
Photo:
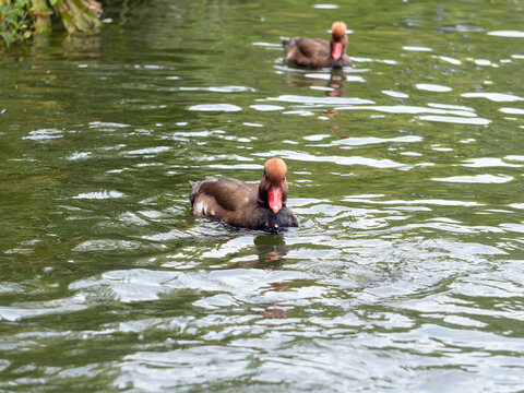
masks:
<path id="1" fill-rule="evenodd" d="M 284 61 L 307 68 L 343 68 L 352 67 L 352 59 L 343 55 L 338 60 L 331 56 L 330 41 L 320 38 L 281 38 L 284 46 Z"/>

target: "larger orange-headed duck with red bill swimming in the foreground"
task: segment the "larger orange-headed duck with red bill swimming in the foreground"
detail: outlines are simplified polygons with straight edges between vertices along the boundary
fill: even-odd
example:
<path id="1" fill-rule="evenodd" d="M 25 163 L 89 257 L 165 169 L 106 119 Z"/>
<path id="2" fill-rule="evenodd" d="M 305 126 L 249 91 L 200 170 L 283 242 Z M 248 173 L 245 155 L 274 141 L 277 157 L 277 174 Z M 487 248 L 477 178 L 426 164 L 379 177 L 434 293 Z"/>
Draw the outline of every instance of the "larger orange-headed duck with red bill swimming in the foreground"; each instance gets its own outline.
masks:
<path id="1" fill-rule="evenodd" d="M 270 233 L 298 227 L 297 217 L 286 206 L 286 163 L 273 157 L 265 162 L 259 184 L 229 177 L 189 181 L 193 214 L 231 227 Z"/>

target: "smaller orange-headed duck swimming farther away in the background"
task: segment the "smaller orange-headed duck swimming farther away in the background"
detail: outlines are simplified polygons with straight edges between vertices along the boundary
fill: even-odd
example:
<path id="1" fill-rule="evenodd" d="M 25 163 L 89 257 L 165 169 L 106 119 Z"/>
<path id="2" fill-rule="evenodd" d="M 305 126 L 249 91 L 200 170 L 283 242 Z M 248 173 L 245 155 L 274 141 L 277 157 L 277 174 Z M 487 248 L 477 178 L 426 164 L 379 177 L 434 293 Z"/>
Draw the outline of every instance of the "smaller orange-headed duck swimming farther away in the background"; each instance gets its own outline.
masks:
<path id="1" fill-rule="evenodd" d="M 320 38 L 281 37 L 284 62 L 312 69 L 352 67 L 352 59 L 345 53 L 346 29 L 344 22 L 333 23 L 329 41 Z"/>

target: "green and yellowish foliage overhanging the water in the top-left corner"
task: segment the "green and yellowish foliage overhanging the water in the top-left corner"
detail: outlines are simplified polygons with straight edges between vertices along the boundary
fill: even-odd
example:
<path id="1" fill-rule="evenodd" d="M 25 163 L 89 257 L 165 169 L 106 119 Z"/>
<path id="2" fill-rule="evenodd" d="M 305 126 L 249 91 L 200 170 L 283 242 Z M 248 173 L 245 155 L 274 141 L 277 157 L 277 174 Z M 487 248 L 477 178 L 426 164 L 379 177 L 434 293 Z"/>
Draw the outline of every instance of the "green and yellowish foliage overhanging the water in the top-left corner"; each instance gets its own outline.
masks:
<path id="1" fill-rule="evenodd" d="M 51 15 L 68 33 L 91 32 L 102 24 L 100 14 L 96 0 L 0 0 L 0 40 L 9 47 L 49 31 Z"/>

